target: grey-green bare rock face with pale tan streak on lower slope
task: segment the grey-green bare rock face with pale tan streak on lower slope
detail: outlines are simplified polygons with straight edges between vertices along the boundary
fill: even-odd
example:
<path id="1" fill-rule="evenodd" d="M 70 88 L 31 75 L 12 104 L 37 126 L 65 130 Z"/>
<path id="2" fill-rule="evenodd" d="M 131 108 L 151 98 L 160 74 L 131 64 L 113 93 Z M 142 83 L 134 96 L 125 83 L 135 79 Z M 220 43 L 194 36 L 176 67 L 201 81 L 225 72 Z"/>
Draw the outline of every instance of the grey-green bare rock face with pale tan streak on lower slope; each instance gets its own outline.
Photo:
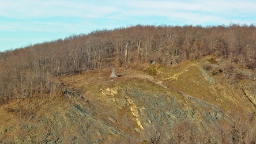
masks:
<path id="1" fill-rule="evenodd" d="M 111 91 L 111 88 L 106 89 L 106 92 Z M 80 98 L 81 94 L 65 91 L 64 94 L 70 99 L 69 107 L 42 115 L 36 122 L 6 126 L 1 131 L 1 142 L 104 143 L 116 136 L 118 139 L 128 139 L 140 135 L 145 128 L 157 126 L 168 129 L 185 120 L 202 119 L 202 122 L 206 123 L 224 118 L 223 112 L 216 106 L 186 94 L 179 95 L 188 105 L 183 108 L 180 107 L 182 103 L 172 96 L 149 94 L 135 89 L 122 91 L 123 93 L 119 93 L 113 101 L 111 109 L 101 113 L 95 113 L 88 104 L 89 101 Z M 114 93 L 118 94 L 116 91 L 112 92 Z M 112 94 L 110 96 L 113 96 Z M 116 109 L 122 113 L 126 112 L 124 115 L 112 113 Z M 121 121 L 125 122 L 122 122 L 123 126 L 120 126 Z M 18 134 L 17 130 L 22 134 Z"/>

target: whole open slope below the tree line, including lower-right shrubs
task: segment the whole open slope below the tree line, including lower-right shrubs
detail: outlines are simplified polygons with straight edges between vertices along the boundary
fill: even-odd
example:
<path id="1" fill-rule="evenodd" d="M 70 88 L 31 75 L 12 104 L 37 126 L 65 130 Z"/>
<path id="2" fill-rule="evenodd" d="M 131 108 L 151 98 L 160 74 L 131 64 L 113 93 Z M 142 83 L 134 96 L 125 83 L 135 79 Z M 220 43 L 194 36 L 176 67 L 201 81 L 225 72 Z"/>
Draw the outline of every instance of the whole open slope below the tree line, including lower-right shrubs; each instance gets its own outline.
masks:
<path id="1" fill-rule="evenodd" d="M 208 56 L 55 77 L 61 93 L 2 105 L 0 142 L 255 142 L 255 71 L 226 66 Z"/>

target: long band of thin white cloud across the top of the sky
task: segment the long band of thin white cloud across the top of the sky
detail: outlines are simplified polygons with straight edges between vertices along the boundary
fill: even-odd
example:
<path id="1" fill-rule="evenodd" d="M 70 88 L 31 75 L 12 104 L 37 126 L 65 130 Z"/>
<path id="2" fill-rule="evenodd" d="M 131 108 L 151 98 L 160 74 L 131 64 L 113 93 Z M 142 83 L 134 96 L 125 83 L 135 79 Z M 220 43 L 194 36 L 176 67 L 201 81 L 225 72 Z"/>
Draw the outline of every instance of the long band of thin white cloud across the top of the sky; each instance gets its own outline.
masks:
<path id="1" fill-rule="evenodd" d="M 104 0 L 100 2 L 10 0 L 1 2 L 0 16 L 18 19 L 77 17 L 91 18 L 92 20 L 94 18 L 129 20 L 129 18 L 137 16 L 159 16 L 169 18 L 170 20 L 191 22 L 191 24 L 200 24 L 200 22 L 216 22 L 221 24 L 227 21 L 239 21 L 238 18 L 247 17 L 249 15 L 256 16 L 255 6 L 255 1 L 242 0 Z"/>

